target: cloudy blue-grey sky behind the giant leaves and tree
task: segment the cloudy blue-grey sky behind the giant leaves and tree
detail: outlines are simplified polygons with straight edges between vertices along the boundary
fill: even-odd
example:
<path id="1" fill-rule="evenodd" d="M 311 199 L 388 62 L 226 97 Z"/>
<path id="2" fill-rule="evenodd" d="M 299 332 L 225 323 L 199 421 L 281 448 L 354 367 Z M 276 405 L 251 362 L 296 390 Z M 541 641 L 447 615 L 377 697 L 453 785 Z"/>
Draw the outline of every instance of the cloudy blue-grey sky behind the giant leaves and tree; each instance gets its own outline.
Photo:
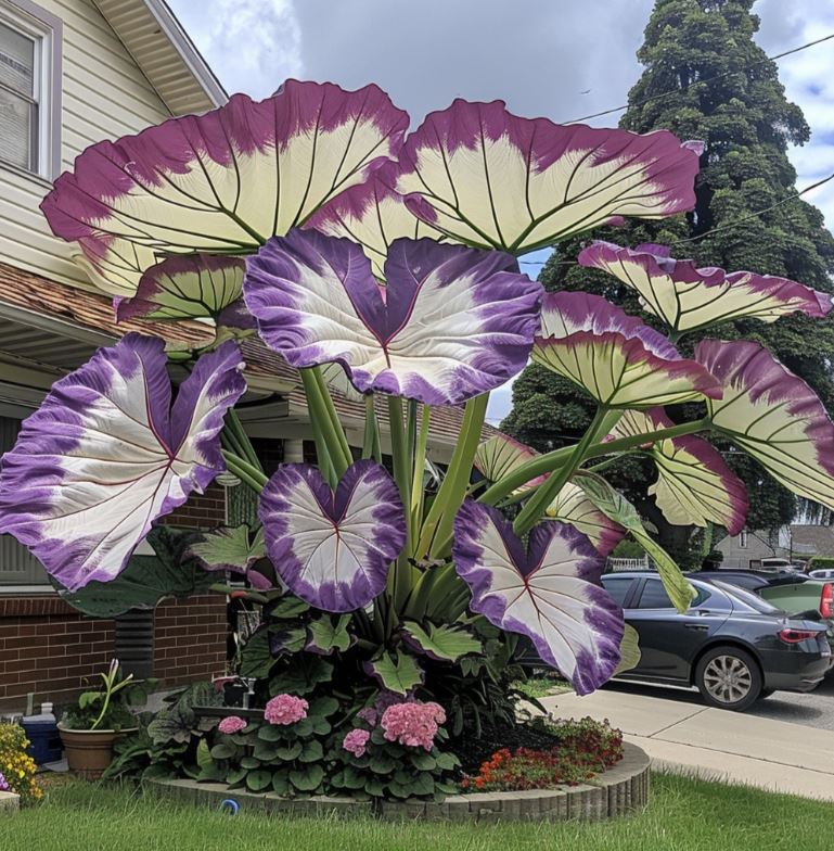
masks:
<path id="1" fill-rule="evenodd" d="M 506 101 L 530 117 L 569 122 L 626 103 L 653 0 L 169 0 L 231 93 L 272 93 L 287 77 L 355 89 L 376 82 L 412 116 L 454 98 Z M 834 3 L 758 0 L 768 55 L 834 33 Z M 803 189 L 834 172 L 834 41 L 779 60 L 811 140 L 790 152 Z M 591 119 L 616 126 L 619 114 Z M 834 181 L 805 195 L 834 229 Z M 528 255 L 538 274 L 548 252 Z M 488 418 L 509 412 L 511 390 Z"/>

